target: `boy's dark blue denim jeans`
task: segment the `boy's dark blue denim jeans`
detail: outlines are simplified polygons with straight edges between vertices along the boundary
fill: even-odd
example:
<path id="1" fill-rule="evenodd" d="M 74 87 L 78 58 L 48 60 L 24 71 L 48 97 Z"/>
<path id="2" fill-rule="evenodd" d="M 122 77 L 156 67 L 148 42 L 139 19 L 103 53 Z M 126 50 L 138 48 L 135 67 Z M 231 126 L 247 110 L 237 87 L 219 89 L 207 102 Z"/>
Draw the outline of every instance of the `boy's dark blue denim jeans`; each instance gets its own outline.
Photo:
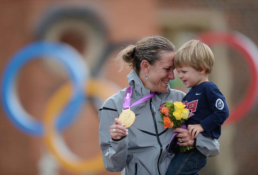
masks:
<path id="1" fill-rule="evenodd" d="M 206 165 L 206 156 L 196 148 L 185 153 L 179 152 L 171 160 L 166 175 L 197 174 Z"/>

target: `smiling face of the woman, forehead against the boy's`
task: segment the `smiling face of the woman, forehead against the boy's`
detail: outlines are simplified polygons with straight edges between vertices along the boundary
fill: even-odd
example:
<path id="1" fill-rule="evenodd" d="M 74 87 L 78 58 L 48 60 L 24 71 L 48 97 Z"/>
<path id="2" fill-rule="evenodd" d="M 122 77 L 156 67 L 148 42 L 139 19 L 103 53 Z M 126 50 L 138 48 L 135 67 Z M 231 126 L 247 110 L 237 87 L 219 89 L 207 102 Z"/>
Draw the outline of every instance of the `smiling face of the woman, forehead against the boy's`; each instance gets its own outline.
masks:
<path id="1" fill-rule="evenodd" d="M 174 57 L 175 52 L 164 52 L 161 59 L 155 65 L 151 65 L 145 81 L 147 89 L 153 92 L 167 92 L 169 81 L 175 79 L 174 76 Z"/>

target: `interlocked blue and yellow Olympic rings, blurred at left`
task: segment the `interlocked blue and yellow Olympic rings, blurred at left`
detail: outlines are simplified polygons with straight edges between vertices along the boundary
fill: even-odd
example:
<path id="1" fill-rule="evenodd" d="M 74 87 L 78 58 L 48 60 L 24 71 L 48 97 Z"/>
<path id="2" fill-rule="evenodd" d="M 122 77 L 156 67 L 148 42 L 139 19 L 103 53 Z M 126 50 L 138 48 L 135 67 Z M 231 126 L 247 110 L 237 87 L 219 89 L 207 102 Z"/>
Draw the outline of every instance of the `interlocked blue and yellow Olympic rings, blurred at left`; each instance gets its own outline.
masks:
<path id="1" fill-rule="evenodd" d="M 56 59 L 71 75 L 71 82 L 60 87 L 47 103 L 43 124 L 33 120 L 32 116 L 22 108 L 15 91 L 15 78 L 19 70 L 37 56 Z M 71 124 L 85 97 L 97 97 L 104 101 L 118 91 L 118 87 L 111 82 L 101 79 L 88 80 L 84 65 L 79 53 L 68 45 L 32 43 L 21 49 L 7 65 L 2 81 L 2 100 L 7 116 L 14 125 L 27 134 L 44 136 L 46 146 L 64 168 L 78 173 L 96 173 L 105 169 L 104 166 L 100 166 L 103 165 L 102 153 L 93 158 L 81 160 L 67 148 L 60 134 L 61 129 Z M 103 85 L 105 85 L 105 91 L 102 89 Z"/>

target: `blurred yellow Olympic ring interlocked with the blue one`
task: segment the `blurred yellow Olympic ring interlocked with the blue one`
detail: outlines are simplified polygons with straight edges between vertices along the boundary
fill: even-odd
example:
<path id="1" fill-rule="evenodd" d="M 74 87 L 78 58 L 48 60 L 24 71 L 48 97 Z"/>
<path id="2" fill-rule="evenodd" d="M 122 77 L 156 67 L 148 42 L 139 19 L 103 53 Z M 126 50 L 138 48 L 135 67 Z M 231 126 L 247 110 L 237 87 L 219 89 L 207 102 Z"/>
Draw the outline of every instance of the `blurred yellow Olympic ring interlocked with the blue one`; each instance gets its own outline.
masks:
<path id="1" fill-rule="evenodd" d="M 103 90 L 103 85 L 104 90 Z M 110 82 L 99 79 L 90 79 L 87 83 L 88 96 L 98 97 L 102 100 L 106 100 L 108 97 L 118 92 L 117 87 L 112 87 Z M 64 108 L 68 102 L 71 94 L 71 84 L 65 83 L 60 87 L 56 93 L 50 98 L 46 106 L 46 112 L 44 114 L 44 126 L 45 133 L 44 140 L 46 146 L 50 152 L 57 158 L 60 164 L 76 173 L 98 173 L 105 170 L 102 161 L 102 153 L 91 158 L 90 160 L 81 160 L 75 154 L 73 154 L 61 139 L 60 134 L 55 129 L 54 123 L 57 114 Z"/>

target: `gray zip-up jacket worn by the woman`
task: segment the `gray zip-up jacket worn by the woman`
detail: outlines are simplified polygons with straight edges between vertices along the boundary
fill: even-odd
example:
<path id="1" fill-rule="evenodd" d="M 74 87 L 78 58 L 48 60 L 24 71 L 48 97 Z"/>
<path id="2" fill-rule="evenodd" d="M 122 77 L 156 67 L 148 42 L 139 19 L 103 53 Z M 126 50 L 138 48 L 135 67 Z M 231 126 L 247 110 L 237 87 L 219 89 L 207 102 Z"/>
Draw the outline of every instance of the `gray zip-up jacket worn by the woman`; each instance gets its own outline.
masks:
<path id="1" fill-rule="evenodd" d="M 135 71 L 127 76 L 133 89 L 131 104 L 150 94 Z M 128 129 L 128 135 L 112 140 L 110 126 L 122 112 L 126 88 L 108 98 L 99 110 L 99 144 L 103 152 L 103 163 L 107 171 L 122 174 L 165 174 L 166 147 L 173 135 L 173 128 L 165 129 L 161 121 L 160 106 L 172 99 L 181 102 L 185 94 L 168 88 L 165 93 L 159 93 L 153 98 L 130 109 L 136 114 L 136 119 Z M 219 140 L 204 137 L 199 134 L 196 148 L 206 156 L 219 154 Z M 167 166 L 174 154 L 168 155 Z"/>

